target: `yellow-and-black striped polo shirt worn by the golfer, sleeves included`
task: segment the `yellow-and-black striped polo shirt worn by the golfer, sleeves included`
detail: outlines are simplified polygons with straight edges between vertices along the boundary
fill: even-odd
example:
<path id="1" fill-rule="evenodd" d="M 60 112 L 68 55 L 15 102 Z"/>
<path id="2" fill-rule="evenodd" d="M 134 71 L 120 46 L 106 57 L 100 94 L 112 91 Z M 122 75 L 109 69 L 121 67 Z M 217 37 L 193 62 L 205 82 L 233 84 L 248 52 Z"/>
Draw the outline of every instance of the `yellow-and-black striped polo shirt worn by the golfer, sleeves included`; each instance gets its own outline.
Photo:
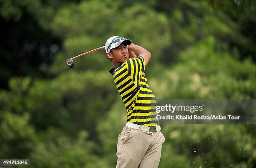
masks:
<path id="1" fill-rule="evenodd" d="M 143 75 L 144 58 L 126 59 L 110 69 L 127 110 L 126 121 L 141 126 L 157 126 L 156 98 Z"/>

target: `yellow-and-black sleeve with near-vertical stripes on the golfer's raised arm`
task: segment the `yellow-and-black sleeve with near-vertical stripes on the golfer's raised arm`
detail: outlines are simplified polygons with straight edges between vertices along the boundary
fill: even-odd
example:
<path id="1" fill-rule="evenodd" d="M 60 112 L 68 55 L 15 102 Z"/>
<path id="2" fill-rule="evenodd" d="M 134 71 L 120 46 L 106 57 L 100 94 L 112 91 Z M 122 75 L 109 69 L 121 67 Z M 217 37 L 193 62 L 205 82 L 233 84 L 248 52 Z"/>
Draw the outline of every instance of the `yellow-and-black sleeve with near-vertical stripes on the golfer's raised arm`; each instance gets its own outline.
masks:
<path id="1" fill-rule="evenodd" d="M 136 58 L 126 59 L 126 61 L 128 66 L 128 74 L 133 80 L 134 84 L 138 86 L 140 82 L 139 79 L 141 79 L 141 76 L 145 71 L 144 58 L 139 56 Z"/>

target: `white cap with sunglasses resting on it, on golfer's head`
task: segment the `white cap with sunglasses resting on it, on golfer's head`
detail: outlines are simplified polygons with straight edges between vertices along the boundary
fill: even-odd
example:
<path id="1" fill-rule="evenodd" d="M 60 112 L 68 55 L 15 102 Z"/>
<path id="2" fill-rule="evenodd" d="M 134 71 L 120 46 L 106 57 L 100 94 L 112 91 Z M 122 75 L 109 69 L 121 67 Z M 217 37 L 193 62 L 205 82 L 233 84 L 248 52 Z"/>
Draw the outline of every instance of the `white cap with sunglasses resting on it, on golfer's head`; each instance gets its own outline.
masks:
<path id="1" fill-rule="evenodd" d="M 117 38 L 117 42 L 112 42 L 115 38 Z M 110 37 L 106 41 L 106 44 L 105 44 L 106 53 L 110 52 L 110 49 L 118 47 L 122 42 L 124 42 L 126 45 L 130 45 L 132 43 L 131 40 L 128 40 L 125 37 L 120 37 L 120 36 L 112 36 L 112 37 Z"/>

